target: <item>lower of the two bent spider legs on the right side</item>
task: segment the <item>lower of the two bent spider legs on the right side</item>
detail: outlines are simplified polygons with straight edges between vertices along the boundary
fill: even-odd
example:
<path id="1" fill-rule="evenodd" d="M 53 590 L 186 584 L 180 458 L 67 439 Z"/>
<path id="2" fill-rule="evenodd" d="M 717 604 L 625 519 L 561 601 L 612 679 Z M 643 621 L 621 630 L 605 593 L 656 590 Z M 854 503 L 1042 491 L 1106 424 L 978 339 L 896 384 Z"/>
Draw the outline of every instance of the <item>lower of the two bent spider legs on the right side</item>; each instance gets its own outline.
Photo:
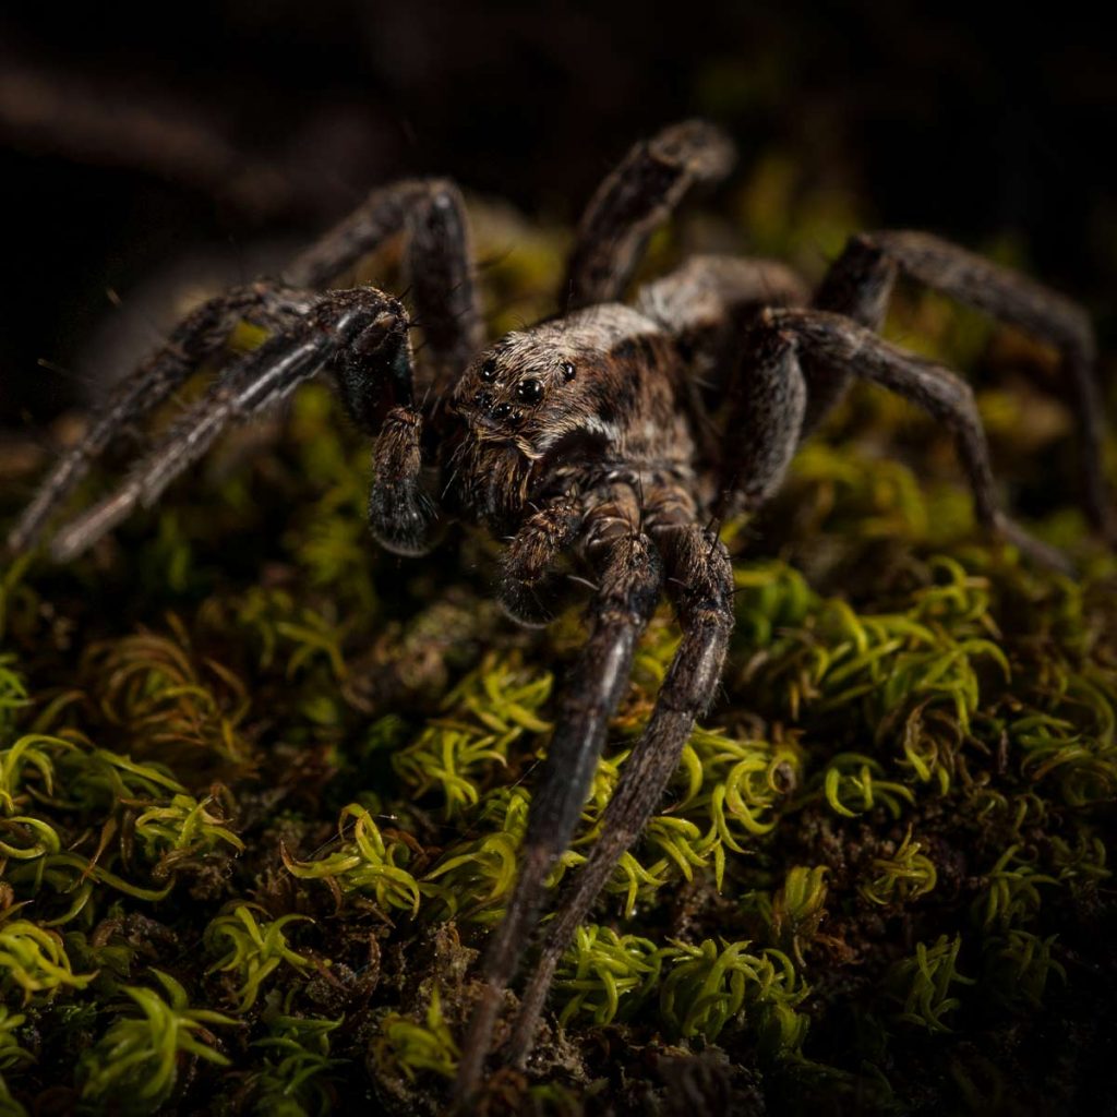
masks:
<path id="1" fill-rule="evenodd" d="M 872 381 L 910 400 L 954 436 L 970 481 L 977 522 L 1037 562 L 1073 573 L 1066 556 L 1030 535 L 1000 507 L 989 443 L 970 385 L 942 365 L 906 353 L 851 318 L 827 311 L 770 311 L 757 326 L 791 340 L 801 364 L 823 374 Z M 808 364 L 810 362 L 810 364 Z M 808 379 L 808 391 L 811 381 Z"/>

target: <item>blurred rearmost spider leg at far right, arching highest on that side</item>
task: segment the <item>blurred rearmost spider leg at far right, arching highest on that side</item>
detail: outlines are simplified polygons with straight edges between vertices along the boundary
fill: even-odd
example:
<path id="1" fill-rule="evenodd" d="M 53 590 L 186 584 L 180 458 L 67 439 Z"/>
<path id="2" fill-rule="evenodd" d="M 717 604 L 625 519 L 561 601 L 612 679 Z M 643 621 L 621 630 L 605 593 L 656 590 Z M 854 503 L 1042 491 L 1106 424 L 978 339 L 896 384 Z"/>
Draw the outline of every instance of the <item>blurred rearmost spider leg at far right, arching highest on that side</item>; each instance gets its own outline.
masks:
<path id="1" fill-rule="evenodd" d="M 1105 409 L 1097 379 L 1097 346 L 1086 312 L 1041 284 L 924 232 L 881 231 L 852 237 L 833 262 L 813 305 L 879 331 L 897 273 L 1052 345 L 1062 357 L 1081 447 L 1079 469 L 1086 510 L 1110 541 L 1117 512 L 1102 466 Z M 805 432 L 841 397 L 849 374 L 804 366 L 811 385 Z"/>

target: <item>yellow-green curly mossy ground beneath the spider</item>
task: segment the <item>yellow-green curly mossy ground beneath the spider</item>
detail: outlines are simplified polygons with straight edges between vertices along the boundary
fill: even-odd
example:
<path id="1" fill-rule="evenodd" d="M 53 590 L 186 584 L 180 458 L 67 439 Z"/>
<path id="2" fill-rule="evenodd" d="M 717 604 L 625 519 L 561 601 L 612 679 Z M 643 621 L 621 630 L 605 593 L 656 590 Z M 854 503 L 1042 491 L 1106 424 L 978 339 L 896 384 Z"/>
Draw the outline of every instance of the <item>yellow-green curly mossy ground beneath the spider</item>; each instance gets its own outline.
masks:
<path id="1" fill-rule="evenodd" d="M 817 274 L 860 222 L 787 173 L 762 161 L 742 218 Z M 498 325 L 560 241 L 487 269 Z M 856 392 L 726 528 L 724 693 L 486 1111 L 1111 1104 L 1117 562 L 1020 375 L 1051 354 L 914 293 L 891 328 L 974 376 L 1014 507 L 1081 576 L 983 538 L 944 433 Z M 8 449 L 4 515 L 44 460 Z M 504 620 L 481 535 L 379 552 L 366 483 L 311 388 L 88 557 L 0 572 L 0 1111 L 445 1099 L 581 621 Z M 676 641 L 665 609 L 562 873 Z"/>

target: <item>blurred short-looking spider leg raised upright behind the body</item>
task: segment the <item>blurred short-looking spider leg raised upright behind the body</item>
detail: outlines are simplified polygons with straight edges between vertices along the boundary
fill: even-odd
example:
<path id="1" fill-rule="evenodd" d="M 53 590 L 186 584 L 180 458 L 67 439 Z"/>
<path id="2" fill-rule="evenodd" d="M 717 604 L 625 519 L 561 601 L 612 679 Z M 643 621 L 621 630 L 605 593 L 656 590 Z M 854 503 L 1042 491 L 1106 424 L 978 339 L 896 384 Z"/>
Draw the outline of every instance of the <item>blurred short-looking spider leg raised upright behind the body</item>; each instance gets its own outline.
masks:
<path id="1" fill-rule="evenodd" d="M 582 216 L 561 288 L 562 313 L 620 302 L 656 229 L 693 187 L 724 179 L 733 142 L 705 121 L 682 121 L 636 144 Z"/>

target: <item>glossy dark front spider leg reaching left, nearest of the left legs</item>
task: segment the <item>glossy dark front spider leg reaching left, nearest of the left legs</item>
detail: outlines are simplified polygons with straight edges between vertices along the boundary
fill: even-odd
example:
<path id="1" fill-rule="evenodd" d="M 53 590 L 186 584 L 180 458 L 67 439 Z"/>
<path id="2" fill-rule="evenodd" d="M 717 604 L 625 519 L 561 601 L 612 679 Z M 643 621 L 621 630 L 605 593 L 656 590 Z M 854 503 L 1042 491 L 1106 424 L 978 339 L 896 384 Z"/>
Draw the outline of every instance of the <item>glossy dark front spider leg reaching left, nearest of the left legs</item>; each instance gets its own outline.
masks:
<path id="1" fill-rule="evenodd" d="M 328 361 L 345 355 L 382 391 L 410 402 L 408 317 L 395 299 L 372 287 L 333 292 L 259 349 L 229 365 L 206 395 L 189 408 L 133 468 L 114 493 L 64 527 L 51 544 L 59 562 L 71 558 L 111 531 L 137 506 L 151 506 L 230 423 L 242 422 L 284 399 Z M 345 378 L 340 378 L 345 383 Z M 343 398 L 346 392 L 343 390 Z M 366 422 L 364 408 L 354 420 Z"/>

